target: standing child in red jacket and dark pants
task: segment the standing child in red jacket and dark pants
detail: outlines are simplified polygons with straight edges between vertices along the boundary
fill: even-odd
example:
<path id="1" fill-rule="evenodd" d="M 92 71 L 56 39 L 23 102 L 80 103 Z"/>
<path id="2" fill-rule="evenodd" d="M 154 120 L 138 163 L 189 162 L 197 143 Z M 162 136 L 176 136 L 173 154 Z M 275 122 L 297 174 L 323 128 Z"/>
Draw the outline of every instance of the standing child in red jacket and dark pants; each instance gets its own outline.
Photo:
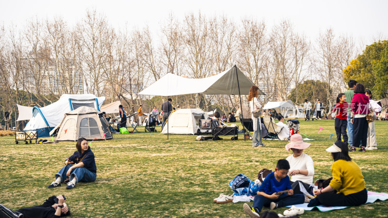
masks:
<path id="1" fill-rule="evenodd" d="M 336 112 L 336 120 L 334 121 L 334 128 L 337 134 L 337 140 L 341 140 L 348 145 L 348 135 L 346 134 L 346 126 L 348 124 L 346 118 L 348 116 L 348 103 L 346 103 L 346 96 L 344 93 L 339 93 L 337 97 L 337 104 L 332 112 Z M 355 150 L 354 150 L 355 151 Z"/>

